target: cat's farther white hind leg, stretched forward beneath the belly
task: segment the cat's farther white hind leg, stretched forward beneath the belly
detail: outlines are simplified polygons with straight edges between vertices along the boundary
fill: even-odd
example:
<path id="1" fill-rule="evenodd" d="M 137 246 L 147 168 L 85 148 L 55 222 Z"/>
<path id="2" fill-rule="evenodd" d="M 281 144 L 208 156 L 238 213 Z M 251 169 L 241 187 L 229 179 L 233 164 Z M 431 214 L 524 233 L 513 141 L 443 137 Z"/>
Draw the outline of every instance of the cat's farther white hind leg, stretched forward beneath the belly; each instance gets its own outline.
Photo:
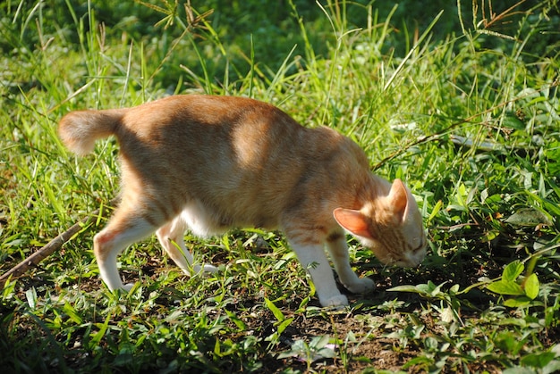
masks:
<path id="1" fill-rule="evenodd" d="M 194 265 L 194 258 L 191 251 L 184 245 L 184 232 L 187 229 L 185 221 L 179 215 L 167 222 L 164 226 L 157 229 L 156 235 L 161 246 L 171 259 L 179 266 L 187 275 L 191 275 L 191 271 L 198 273 L 200 270 L 214 273 L 217 268 L 212 265 L 203 264 Z"/>

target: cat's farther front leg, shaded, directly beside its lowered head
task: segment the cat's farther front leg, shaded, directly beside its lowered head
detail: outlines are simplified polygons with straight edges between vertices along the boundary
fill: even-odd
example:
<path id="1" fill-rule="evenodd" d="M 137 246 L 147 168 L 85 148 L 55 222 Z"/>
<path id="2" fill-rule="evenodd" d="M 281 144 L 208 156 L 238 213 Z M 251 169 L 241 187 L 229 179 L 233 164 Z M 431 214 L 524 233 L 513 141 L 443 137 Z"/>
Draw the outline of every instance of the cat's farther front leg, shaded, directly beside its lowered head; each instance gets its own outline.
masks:
<path id="1" fill-rule="evenodd" d="M 335 265 L 336 274 L 344 287 L 354 294 L 365 294 L 375 289 L 373 280 L 360 278 L 352 270 L 344 233 L 331 234 L 327 238 L 327 249 Z"/>

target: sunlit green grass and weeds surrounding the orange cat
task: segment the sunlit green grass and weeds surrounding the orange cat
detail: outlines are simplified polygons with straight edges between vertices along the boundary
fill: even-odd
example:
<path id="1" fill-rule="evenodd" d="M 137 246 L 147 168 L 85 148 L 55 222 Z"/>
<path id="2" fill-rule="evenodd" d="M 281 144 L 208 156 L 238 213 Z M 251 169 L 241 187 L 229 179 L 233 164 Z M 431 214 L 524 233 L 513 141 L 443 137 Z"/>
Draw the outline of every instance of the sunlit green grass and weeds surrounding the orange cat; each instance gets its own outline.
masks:
<path id="1" fill-rule="evenodd" d="M 352 262 L 378 290 L 349 295 L 352 307 L 333 313 L 318 307 L 281 233 L 240 230 L 203 242 L 187 233 L 220 268 L 192 278 L 149 238 L 120 257 L 124 277 L 139 282 L 119 295 L 101 284 L 91 251 L 101 214 L 5 285 L 0 366 L 560 368 L 556 1 L 512 9 L 432 2 L 421 21 L 411 18 L 420 5 L 406 1 L 294 1 L 273 10 L 217 0 L 196 10 L 96 3 L 0 4 L 0 272 L 89 212 L 110 211 L 115 141 L 75 158 L 56 137 L 64 113 L 190 92 L 252 96 L 305 126 L 353 137 L 378 174 L 412 188 L 430 253 L 419 269 L 386 268 L 351 241 Z"/>

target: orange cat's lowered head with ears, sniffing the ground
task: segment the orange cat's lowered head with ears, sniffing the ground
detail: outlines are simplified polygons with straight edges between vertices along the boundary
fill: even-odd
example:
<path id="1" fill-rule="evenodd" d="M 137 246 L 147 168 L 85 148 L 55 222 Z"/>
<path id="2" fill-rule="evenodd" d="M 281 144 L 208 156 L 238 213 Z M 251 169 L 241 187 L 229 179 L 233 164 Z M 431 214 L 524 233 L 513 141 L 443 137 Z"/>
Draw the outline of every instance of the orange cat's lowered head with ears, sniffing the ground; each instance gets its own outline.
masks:
<path id="1" fill-rule="evenodd" d="M 386 195 L 369 201 L 361 210 L 336 208 L 334 215 L 380 262 L 415 267 L 426 255 L 428 242 L 420 210 L 400 179 L 395 179 Z"/>

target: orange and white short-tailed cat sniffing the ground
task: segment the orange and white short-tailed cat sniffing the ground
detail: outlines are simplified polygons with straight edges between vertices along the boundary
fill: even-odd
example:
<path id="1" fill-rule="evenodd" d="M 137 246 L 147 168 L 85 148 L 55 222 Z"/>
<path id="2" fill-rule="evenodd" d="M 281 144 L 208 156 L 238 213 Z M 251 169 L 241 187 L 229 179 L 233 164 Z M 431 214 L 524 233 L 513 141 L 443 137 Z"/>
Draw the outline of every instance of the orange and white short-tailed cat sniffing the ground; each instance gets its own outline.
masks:
<path id="1" fill-rule="evenodd" d="M 271 104 L 233 96 L 178 95 L 123 109 L 70 112 L 59 136 L 75 154 L 97 139 L 120 145 L 121 202 L 93 239 L 101 278 L 130 290 L 117 270 L 123 249 L 156 231 L 187 274 L 197 266 L 184 232 L 281 229 L 309 271 L 319 303 L 342 307 L 325 246 L 344 287 L 363 294 L 369 278 L 351 268 L 345 231 L 386 264 L 414 267 L 426 254 L 422 217 L 400 179 L 369 170 L 360 146 L 334 129 L 305 128 Z"/>

